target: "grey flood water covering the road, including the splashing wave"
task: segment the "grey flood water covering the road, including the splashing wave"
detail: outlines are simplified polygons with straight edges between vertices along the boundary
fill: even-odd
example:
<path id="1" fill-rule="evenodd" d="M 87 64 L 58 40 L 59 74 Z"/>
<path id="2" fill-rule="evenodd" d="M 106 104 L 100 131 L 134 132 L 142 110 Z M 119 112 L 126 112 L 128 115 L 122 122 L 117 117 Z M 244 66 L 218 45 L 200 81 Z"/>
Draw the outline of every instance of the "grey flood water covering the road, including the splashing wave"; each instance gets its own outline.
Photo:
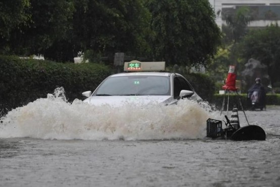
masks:
<path id="1" fill-rule="evenodd" d="M 97 108 L 48 96 L 1 119 L 0 186 L 280 186 L 280 107 L 245 112 L 265 141 L 204 138 L 206 120 L 223 119 L 207 104 Z"/>

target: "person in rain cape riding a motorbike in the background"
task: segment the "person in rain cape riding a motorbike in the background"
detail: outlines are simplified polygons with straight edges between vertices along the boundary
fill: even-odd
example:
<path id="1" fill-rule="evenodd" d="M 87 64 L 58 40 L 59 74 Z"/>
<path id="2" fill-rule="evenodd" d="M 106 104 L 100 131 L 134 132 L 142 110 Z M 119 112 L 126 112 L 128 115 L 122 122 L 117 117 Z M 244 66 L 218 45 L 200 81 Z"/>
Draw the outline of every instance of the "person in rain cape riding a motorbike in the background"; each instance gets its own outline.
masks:
<path id="1" fill-rule="evenodd" d="M 265 89 L 261 84 L 261 79 L 256 78 L 256 83 L 248 90 L 248 98 L 252 104 L 252 110 L 257 106 L 262 110 L 265 106 Z"/>

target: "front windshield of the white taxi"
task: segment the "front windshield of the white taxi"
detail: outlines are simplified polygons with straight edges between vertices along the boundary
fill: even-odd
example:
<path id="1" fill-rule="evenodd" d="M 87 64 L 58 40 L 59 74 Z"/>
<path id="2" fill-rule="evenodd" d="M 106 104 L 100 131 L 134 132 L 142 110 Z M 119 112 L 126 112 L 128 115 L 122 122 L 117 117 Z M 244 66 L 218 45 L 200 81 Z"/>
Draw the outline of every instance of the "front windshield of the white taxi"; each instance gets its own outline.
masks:
<path id="1" fill-rule="evenodd" d="M 108 77 L 93 96 L 148 96 L 170 95 L 170 78 L 167 76 Z"/>

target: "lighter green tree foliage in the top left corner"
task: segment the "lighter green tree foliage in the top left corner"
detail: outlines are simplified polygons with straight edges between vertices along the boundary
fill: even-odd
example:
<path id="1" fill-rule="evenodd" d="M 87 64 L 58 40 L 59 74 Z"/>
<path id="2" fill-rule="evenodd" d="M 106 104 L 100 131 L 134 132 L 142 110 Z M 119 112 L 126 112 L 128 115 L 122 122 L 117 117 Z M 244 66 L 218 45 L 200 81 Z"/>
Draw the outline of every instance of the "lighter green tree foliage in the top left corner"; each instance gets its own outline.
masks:
<path id="1" fill-rule="evenodd" d="M 2 0 L 0 2 L 0 53 L 9 53 L 8 45 L 11 32 L 14 29 L 22 31 L 21 26 L 30 22 L 29 0 Z"/>

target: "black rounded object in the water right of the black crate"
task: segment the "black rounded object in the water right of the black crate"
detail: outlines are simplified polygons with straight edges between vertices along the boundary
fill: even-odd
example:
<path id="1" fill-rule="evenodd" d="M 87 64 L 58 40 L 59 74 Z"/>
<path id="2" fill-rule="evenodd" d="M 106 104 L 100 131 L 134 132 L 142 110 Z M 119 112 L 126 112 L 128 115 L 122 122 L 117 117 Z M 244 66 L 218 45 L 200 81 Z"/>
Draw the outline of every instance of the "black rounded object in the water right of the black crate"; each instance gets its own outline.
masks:
<path id="1" fill-rule="evenodd" d="M 231 139 L 234 141 L 248 141 L 248 140 L 265 140 L 264 130 L 257 125 L 248 125 L 236 130 Z"/>

